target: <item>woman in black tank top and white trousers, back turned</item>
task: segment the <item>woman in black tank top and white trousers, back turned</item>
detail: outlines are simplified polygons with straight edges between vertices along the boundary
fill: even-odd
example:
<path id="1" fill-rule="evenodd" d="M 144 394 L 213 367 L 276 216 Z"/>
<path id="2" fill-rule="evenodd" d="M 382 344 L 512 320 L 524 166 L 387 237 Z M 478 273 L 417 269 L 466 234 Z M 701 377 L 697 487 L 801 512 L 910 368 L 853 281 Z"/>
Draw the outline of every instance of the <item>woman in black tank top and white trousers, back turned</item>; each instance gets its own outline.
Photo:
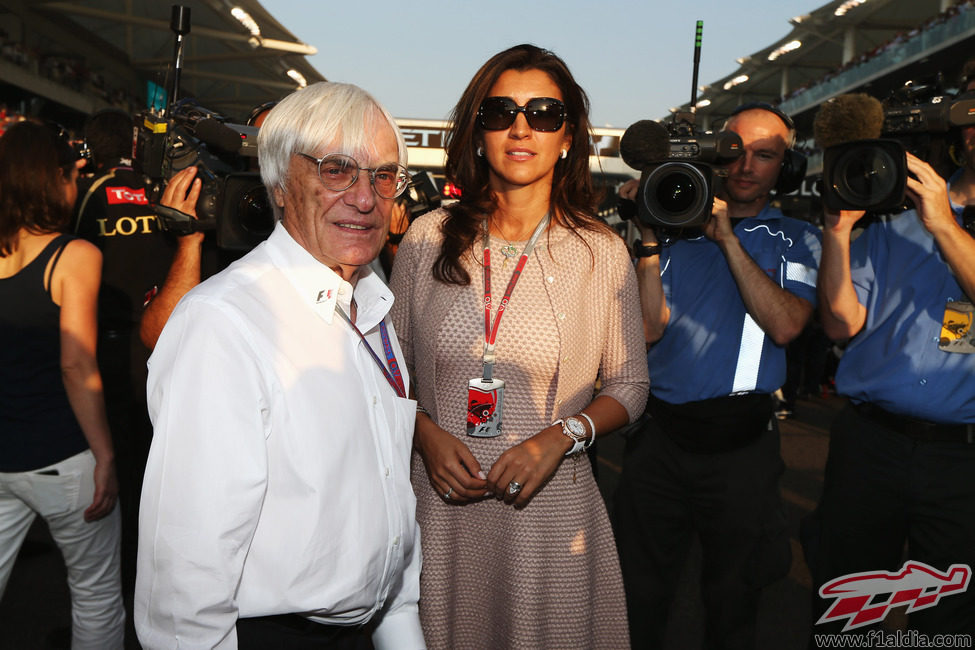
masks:
<path id="1" fill-rule="evenodd" d="M 0 137 L 0 596 L 36 515 L 61 549 L 74 649 L 122 648 L 120 520 L 95 361 L 101 253 L 60 234 L 78 156 L 49 126 Z"/>

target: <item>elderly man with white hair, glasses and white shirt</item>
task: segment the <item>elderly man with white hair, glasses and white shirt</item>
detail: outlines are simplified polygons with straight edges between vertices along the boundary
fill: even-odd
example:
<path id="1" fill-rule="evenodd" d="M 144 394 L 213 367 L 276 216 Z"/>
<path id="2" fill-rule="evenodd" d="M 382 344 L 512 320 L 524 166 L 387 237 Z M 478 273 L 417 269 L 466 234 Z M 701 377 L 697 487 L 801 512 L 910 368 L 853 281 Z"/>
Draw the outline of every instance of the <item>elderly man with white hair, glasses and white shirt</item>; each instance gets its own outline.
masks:
<path id="1" fill-rule="evenodd" d="M 139 640 L 422 648 L 416 404 L 366 266 L 406 146 L 370 95 L 320 83 L 271 111 L 258 150 L 279 222 L 180 301 L 149 362 Z"/>

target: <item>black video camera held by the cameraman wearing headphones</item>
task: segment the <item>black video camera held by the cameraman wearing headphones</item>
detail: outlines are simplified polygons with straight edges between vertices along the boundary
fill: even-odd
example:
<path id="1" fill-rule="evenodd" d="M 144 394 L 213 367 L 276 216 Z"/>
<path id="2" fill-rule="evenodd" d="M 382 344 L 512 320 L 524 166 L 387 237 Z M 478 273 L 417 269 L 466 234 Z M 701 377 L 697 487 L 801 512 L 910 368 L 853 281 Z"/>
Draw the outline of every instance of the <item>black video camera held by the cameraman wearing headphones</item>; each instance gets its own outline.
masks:
<path id="1" fill-rule="evenodd" d="M 643 172 L 636 218 L 655 228 L 698 228 L 711 217 L 723 167 L 743 153 L 741 138 L 730 131 L 698 131 L 691 113 L 676 116 L 666 130 L 669 137 L 663 156 L 636 165 L 627 161 Z"/>

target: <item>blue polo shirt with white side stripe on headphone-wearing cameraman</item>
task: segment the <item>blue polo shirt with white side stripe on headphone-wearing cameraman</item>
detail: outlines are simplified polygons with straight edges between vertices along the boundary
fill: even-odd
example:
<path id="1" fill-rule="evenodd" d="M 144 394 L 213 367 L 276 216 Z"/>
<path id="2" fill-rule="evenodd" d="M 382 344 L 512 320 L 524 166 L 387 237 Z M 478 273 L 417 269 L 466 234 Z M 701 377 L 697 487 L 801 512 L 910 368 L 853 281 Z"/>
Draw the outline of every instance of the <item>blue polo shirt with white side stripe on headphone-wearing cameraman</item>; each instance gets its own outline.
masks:
<path id="1" fill-rule="evenodd" d="M 816 304 L 820 231 L 767 204 L 735 234 L 772 280 Z M 663 337 L 647 354 L 650 389 L 682 404 L 741 393 L 771 393 L 785 382 L 785 348 L 745 310 L 724 253 L 706 237 L 682 239 L 660 254 L 670 307 Z"/>

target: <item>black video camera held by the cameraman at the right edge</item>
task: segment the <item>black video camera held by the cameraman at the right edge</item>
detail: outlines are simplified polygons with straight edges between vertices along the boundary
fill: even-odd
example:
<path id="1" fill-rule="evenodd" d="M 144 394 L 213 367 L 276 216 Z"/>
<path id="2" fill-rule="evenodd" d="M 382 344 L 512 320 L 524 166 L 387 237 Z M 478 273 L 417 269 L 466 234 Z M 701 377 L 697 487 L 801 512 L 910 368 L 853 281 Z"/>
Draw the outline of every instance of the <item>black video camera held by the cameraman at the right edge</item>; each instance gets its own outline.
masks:
<path id="1" fill-rule="evenodd" d="M 908 87 L 888 100 L 881 138 L 857 139 L 823 151 L 826 208 L 898 211 L 907 188 L 907 151 L 929 159 L 932 140 L 975 124 L 975 93 L 951 96 L 931 86 Z"/>

